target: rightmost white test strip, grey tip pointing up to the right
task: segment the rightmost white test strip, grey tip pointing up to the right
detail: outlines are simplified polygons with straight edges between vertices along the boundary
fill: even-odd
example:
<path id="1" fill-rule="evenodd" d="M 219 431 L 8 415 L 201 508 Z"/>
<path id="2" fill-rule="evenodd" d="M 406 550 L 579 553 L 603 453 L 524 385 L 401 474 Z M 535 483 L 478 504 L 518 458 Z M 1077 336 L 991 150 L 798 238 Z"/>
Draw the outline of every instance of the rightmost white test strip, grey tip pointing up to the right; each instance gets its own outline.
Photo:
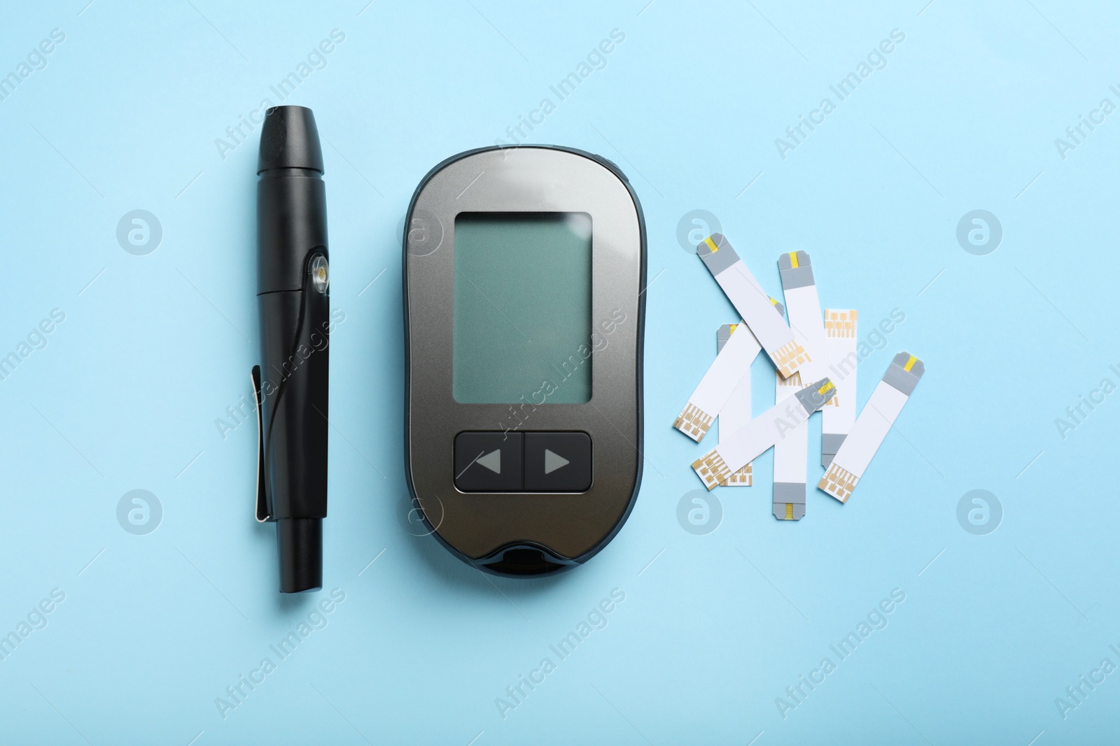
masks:
<path id="1" fill-rule="evenodd" d="M 925 365 L 909 352 L 895 356 L 816 487 L 840 502 L 848 502 L 923 372 Z"/>

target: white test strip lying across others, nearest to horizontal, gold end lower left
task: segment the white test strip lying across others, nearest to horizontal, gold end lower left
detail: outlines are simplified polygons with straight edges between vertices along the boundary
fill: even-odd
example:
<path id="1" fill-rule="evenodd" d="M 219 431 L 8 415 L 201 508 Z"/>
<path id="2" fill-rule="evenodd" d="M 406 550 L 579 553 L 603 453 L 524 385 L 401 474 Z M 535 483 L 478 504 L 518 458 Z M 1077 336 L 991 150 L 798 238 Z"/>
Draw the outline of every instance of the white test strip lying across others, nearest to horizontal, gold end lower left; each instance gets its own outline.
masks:
<path id="1" fill-rule="evenodd" d="M 793 432 L 828 402 L 836 388 L 823 378 L 778 402 L 750 423 L 720 438 L 719 445 L 692 462 L 692 470 L 709 490 L 726 480 Z"/>

